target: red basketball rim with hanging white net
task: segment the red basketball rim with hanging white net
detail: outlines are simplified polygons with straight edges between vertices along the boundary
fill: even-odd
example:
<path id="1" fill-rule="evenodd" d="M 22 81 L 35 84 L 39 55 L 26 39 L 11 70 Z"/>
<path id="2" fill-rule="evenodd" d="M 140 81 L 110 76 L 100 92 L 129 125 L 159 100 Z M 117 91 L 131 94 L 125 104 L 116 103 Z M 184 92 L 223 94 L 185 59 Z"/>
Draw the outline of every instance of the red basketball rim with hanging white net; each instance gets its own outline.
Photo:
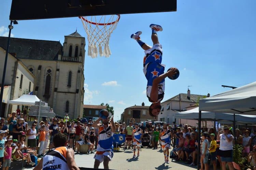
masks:
<path id="1" fill-rule="evenodd" d="M 99 55 L 109 57 L 109 39 L 113 30 L 116 28 L 120 15 L 102 15 L 79 17 L 82 21 L 88 39 L 88 56 L 96 58 Z M 104 48 L 102 50 L 102 47 Z"/>

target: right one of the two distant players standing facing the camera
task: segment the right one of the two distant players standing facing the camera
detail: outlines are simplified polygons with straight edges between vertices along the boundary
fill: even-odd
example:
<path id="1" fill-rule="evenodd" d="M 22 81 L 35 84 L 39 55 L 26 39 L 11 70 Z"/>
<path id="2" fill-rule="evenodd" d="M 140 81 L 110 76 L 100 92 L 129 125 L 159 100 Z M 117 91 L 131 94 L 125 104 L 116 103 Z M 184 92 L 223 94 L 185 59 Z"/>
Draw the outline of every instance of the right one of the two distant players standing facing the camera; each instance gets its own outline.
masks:
<path id="1" fill-rule="evenodd" d="M 163 155 L 165 155 L 165 163 L 169 163 L 169 149 L 171 142 L 171 130 L 167 129 L 167 124 L 163 124 L 162 132 L 159 133 L 159 140 L 161 141 L 161 148 L 163 150 Z"/>

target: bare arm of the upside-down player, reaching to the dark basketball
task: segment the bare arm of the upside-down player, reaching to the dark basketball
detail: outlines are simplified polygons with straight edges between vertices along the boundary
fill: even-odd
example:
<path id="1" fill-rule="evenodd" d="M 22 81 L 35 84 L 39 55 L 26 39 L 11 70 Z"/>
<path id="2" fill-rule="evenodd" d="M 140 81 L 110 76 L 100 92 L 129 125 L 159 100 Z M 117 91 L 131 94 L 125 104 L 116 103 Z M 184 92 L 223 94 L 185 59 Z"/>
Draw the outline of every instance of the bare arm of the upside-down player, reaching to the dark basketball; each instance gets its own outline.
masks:
<path id="1" fill-rule="evenodd" d="M 153 102 L 156 102 L 158 99 L 158 84 L 165 79 L 166 77 L 172 77 L 176 73 L 176 68 L 171 68 L 168 72 L 161 74 L 153 80 L 152 90 L 150 93 L 150 98 Z"/>

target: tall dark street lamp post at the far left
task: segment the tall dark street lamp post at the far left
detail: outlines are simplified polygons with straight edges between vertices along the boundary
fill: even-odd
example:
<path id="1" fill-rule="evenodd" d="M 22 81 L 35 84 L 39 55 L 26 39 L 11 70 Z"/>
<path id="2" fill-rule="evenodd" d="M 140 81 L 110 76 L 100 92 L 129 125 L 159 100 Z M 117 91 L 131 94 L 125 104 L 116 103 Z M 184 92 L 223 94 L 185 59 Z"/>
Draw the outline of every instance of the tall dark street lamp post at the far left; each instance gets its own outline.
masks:
<path id="1" fill-rule="evenodd" d="M 11 20 L 11 24 L 8 26 L 8 28 L 9 28 L 9 36 L 8 36 L 8 42 L 7 42 L 7 47 L 6 47 L 6 54 L 5 54 L 5 60 L 4 60 L 4 66 L 3 66 L 3 77 L 2 77 L 2 84 L 1 84 L 1 92 L 0 92 L 0 112 L 1 112 L 1 114 L 2 114 L 4 79 L 5 79 L 6 65 L 7 65 L 8 53 L 9 53 L 9 44 L 10 44 L 11 30 L 13 29 L 12 23 L 13 24 L 18 24 L 18 22 Z"/>

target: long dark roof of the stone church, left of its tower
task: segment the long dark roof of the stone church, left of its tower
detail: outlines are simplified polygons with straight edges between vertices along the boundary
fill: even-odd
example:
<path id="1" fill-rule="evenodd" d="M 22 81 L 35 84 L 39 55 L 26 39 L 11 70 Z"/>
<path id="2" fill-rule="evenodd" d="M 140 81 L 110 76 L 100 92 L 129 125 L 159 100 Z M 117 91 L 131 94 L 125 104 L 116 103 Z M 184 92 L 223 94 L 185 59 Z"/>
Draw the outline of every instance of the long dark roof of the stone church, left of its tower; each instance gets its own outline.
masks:
<path id="1" fill-rule="evenodd" d="M 0 46 L 6 49 L 8 37 L 0 36 Z M 16 54 L 18 59 L 57 60 L 62 52 L 59 41 L 32 40 L 25 38 L 11 38 L 9 53 Z"/>

